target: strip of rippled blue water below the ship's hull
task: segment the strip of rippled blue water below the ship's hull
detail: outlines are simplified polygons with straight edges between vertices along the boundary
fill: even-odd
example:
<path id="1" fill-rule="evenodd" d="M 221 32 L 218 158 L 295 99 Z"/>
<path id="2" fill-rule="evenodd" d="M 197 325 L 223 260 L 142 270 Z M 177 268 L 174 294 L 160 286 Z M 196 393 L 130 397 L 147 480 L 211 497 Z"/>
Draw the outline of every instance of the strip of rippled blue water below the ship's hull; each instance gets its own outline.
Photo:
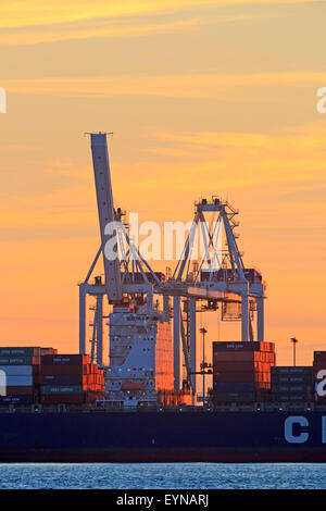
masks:
<path id="1" fill-rule="evenodd" d="M 326 489 L 326 463 L 0 463 L 10 489 Z"/>

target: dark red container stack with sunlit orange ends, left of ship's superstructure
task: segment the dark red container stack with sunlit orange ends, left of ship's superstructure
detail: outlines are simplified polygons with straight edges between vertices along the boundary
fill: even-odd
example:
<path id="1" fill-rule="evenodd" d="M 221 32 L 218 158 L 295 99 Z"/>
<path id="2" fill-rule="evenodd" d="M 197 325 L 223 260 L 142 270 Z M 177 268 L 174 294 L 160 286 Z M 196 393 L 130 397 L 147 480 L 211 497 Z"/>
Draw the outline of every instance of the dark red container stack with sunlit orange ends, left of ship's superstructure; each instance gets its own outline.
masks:
<path id="1" fill-rule="evenodd" d="M 42 404 L 95 404 L 104 397 L 103 371 L 88 354 L 41 357 L 40 384 Z"/>

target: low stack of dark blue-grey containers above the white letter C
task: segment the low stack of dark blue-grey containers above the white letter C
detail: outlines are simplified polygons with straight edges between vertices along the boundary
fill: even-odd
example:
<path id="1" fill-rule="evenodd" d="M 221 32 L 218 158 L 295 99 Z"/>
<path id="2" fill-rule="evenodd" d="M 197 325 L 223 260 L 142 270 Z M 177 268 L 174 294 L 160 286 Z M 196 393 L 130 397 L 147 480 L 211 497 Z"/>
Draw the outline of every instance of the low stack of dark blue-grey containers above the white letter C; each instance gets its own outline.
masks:
<path id="1" fill-rule="evenodd" d="M 271 367 L 272 401 L 310 402 L 312 400 L 311 366 Z"/>

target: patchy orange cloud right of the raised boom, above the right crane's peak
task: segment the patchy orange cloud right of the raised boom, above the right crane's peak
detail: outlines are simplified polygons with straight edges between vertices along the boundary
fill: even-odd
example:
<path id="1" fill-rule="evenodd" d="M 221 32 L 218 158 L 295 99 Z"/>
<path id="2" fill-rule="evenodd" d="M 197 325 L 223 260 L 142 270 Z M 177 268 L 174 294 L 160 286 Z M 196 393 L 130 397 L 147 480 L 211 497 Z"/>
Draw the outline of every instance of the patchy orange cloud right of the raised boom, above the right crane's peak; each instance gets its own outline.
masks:
<path id="1" fill-rule="evenodd" d="M 191 190 L 200 182 L 200 176 L 204 176 L 205 183 L 212 186 L 218 175 L 218 188 L 223 190 L 248 187 L 259 190 L 260 186 L 283 185 L 294 192 L 298 185 L 302 191 L 304 183 L 310 186 L 312 180 L 319 185 L 326 183 L 325 134 L 324 124 L 287 128 L 274 135 L 225 132 L 156 134 L 158 145 L 149 151 L 163 158 L 161 165 L 165 170 L 162 178 L 159 173 L 153 176 L 152 185 L 155 182 L 156 186 L 163 186 L 163 182 L 166 185 L 168 180 L 172 187 L 183 186 L 185 190 Z M 174 153 L 184 161 L 168 167 L 164 157 Z M 150 186 L 149 182 L 147 186 Z M 321 197 L 312 205 L 317 210 L 321 207 L 325 209 Z"/>

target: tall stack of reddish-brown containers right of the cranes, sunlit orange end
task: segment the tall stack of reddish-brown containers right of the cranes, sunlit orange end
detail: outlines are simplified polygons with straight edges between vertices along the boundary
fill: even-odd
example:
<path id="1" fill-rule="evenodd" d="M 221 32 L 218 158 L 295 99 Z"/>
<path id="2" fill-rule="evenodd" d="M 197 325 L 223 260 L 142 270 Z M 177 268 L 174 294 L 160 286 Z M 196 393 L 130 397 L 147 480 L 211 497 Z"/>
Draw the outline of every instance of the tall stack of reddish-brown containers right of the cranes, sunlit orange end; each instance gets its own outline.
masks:
<path id="1" fill-rule="evenodd" d="M 267 401 L 273 342 L 213 342 L 214 403 Z"/>

